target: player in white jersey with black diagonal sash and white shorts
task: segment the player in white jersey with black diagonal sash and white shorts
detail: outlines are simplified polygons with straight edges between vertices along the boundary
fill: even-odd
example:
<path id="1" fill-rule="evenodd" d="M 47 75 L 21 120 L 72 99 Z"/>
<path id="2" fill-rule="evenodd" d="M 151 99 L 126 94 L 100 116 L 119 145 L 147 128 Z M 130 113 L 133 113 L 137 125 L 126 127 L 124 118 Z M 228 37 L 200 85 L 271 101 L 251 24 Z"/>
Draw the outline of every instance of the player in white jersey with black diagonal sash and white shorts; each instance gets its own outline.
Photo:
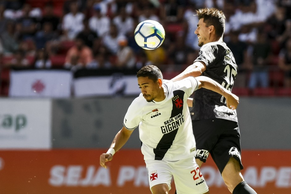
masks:
<path id="1" fill-rule="evenodd" d="M 137 73 L 141 94 L 130 105 L 123 127 L 116 134 L 107 153 L 100 156 L 100 165 L 112 160 L 139 126 L 142 153 L 153 194 L 166 194 L 171 189 L 172 175 L 177 193 L 209 193 L 196 164 L 195 138 L 192 132 L 187 98 L 204 87 L 223 95 L 229 108 L 236 108 L 238 97 L 207 77 L 187 77 L 178 82 L 163 83 L 160 69 L 154 65 Z"/>

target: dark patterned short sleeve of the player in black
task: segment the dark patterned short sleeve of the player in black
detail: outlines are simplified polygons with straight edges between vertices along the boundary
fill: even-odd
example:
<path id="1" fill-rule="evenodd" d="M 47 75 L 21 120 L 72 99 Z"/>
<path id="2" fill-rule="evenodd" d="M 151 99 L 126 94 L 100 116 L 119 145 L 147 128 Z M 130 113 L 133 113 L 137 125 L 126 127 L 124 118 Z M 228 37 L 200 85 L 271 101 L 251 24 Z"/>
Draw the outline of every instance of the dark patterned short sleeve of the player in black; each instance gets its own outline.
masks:
<path id="1" fill-rule="evenodd" d="M 215 60 L 215 53 L 217 51 L 217 45 L 204 45 L 200 48 L 199 56 L 195 61 L 203 61 L 208 66 L 208 64 L 211 64 Z"/>

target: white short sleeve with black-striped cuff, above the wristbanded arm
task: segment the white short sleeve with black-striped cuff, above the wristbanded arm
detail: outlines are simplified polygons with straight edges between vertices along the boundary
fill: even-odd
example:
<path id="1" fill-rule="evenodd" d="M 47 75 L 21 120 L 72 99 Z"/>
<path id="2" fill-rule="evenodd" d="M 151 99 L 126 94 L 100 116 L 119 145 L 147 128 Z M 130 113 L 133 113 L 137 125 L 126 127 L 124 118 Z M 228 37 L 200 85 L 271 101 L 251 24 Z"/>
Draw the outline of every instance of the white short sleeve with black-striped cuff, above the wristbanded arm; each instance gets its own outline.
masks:
<path id="1" fill-rule="evenodd" d="M 139 106 L 138 98 L 136 98 L 128 107 L 123 119 L 123 126 L 128 130 L 134 130 L 141 121 L 142 108 Z"/>

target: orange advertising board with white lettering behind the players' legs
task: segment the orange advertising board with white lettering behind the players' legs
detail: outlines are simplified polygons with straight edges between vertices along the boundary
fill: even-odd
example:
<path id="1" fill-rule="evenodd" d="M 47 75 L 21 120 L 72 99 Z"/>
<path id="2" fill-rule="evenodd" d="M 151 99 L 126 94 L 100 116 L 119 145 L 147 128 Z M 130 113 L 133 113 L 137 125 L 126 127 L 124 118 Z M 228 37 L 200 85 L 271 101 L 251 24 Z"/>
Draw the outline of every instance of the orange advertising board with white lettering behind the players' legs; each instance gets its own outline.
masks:
<path id="1" fill-rule="evenodd" d="M 150 193 L 139 149 L 117 152 L 107 169 L 99 165 L 105 151 L 0 151 L 0 193 Z M 242 174 L 258 194 L 291 193 L 291 151 L 243 151 L 242 160 Z M 201 171 L 211 193 L 230 193 L 211 158 Z"/>

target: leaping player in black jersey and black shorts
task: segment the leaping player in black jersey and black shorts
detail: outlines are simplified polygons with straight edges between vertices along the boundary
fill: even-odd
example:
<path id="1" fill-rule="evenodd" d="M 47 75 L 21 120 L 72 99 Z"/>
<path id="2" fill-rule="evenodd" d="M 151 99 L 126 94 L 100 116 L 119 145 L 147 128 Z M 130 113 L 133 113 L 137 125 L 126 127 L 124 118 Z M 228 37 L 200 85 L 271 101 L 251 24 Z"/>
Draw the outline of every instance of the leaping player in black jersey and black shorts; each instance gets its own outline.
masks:
<path id="1" fill-rule="evenodd" d="M 216 8 L 199 9 L 195 34 L 201 46 L 198 58 L 172 81 L 188 76 L 210 77 L 231 91 L 238 66 L 223 42 L 225 15 Z M 233 194 L 256 193 L 243 179 L 240 132 L 236 110 L 225 106 L 225 98 L 202 88 L 194 92 L 192 125 L 199 166 L 211 154 L 221 176 Z"/>

